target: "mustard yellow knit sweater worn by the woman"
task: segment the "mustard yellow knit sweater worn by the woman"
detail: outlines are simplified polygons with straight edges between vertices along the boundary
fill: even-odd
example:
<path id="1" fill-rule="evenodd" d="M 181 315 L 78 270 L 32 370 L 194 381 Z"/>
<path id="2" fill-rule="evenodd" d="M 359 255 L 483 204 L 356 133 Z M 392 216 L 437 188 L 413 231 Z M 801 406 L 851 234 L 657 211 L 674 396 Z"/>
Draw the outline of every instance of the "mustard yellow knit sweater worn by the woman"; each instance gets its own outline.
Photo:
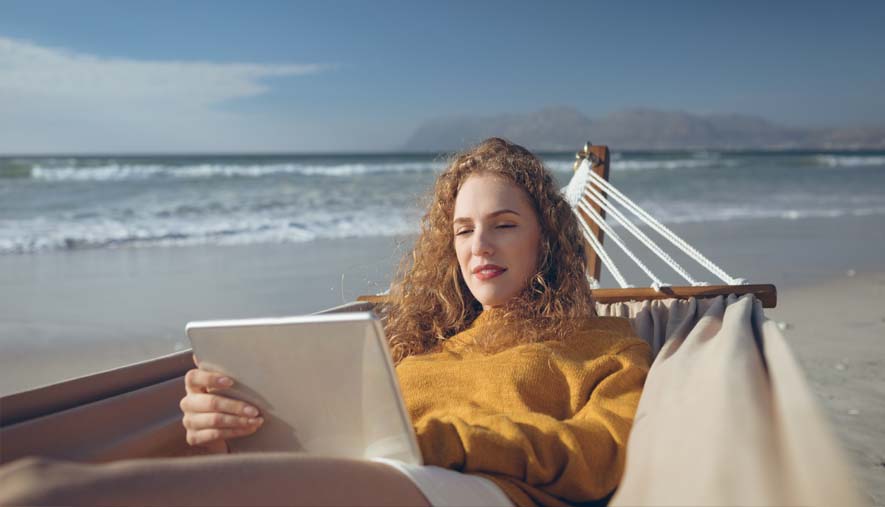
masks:
<path id="1" fill-rule="evenodd" d="M 489 312 L 440 352 L 397 366 L 425 464 L 482 475 L 519 506 L 612 492 L 650 363 L 629 321 L 588 318 L 564 342 L 483 354 Z"/>

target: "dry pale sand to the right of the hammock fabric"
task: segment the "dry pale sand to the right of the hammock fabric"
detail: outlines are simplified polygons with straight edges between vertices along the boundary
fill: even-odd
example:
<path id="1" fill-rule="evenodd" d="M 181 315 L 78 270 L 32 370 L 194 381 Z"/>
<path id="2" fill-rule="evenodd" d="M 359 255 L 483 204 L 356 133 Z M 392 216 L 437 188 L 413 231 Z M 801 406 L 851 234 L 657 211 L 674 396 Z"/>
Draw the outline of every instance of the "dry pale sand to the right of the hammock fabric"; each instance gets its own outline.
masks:
<path id="1" fill-rule="evenodd" d="M 885 505 L 885 272 L 782 291 L 766 315 L 786 324 L 869 503 Z"/>

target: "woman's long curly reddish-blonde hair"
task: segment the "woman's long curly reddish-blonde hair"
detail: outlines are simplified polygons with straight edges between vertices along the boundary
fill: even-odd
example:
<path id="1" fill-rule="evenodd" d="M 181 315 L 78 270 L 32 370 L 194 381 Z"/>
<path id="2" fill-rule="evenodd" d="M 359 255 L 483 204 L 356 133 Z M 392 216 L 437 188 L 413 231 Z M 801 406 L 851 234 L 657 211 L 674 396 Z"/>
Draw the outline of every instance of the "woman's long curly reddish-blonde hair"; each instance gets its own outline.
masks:
<path id="1" fill-rule="evenodd" d="M 387 300 L 376 307 L 396 363 L 438 350 L 482 312 L 461 275 L 452 230 L 458 191 L 476 174 L 498 176 L 524 190 L 541 226 L 537 273 L 495 312 L 500 325 L 489 326 L 495 331 L 477 345 L 493 353 L 562 340 L 594 314 L 584 242 L 570 206 L 538 157 L 493 137 L 454 155 L 439 175 L 414 249 L 400 263 Z"/>

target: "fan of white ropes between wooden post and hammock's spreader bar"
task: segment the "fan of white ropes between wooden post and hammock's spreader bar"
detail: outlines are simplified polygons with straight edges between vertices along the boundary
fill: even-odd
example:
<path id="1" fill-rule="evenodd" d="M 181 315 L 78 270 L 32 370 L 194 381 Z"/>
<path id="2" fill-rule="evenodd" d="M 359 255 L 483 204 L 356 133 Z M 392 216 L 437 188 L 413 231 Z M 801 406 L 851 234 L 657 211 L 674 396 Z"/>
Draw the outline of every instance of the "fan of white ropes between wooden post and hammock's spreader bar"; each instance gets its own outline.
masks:
<path id="1" fill-rule="evenodd" d="M 594 184 L 596 186 L 594 186 Z M 599 188 L 597 188 L 599 187 Z M 605 192 L 608 197 L 603 196 L 602 192 Z M 654 217 L 649 215 L 645 210 L 640 208 L 635 202 L 630 200 L 627 196 L 625 196 L 620 190 L 615 188 L 611 183 L 605 180 L 605 178 L 599 176 L 591 170 L 590 161 L 588 159 L 584 159 L 578 166 L 578 169 L 575 171 L 575 174 L 572 176 L 572 179 L 569 181 L 569 184 L 562 189 L 562 193 L 564 194 L 566 200 L 572 206 L 572 209 L 575 210 L 575 215 L 578 217 L 578 222 L 581 225 L 581 228 L 584 233 L 584 237 L 587 239 L 587 242 L 590 243 L 590 246 L 596 251 L 599 255 L 600 260 L 605 265 L 606 268 L 611 272 L 612 276 L 614 276 L 618 285 L 622 288 L 630 288 L 632 287 L 627 283 L 624 279 L 621 272 L 614 265 L 614 262 L 611 260 L 611 257 L 605 252 L 602 247 L 602 244 L 597 240 L 596 235 L 590 229 L 589 225 L 586 223 L 586 219 L 581 216 L 580 213 L 577 212 L 578 209 L 587 213 L 587 215 L 596 223 L 605 233 L 607 233 L 612 240 L 627 254 L 630 259 L 633 260 L 641 269 L 648 275 L 649 278 L 652 279 L 652 288 L 655 290 L 660 290 L 662 286 L 667 286 L 668 284 L 662 283 L 655 275 L 652 273 L 650 269 L 640 261 L 632 251 L 624 244 L 621 237 L 614 231 L 614 229 L 606 223 L 605 219 L 596 212 L 592 207 L 588 205 L 587 199 L 595 203 L 600 209 L 604 210 L 610 216 L 614 217 L 618 223 L 623 225 L 628 232 L 633 234 L 643 245 L 646 246 L 649 250 L 655 253 L 661 260 L 663 260 L 668 266 L 670 266 L 674 271 L 679 273 L 682 278 L 684 278 L 688 283 L 693 286 L 703 286 L 707 285 L 705 282 L 699 282 L 691 277 L 691 275 L 680 266 L 672 257 L 667 255 L 651 238 L 648 237 L 644 232 L 642 232 L 636 225 L 629 220 L 620 210 L 614 207 L 613 203 L 609 201 L 616 202 L 619 205 L 624 206 L 627 210 L 629 210 L 633 215 L 638 217 L 642 222 L 651 227 L 652 230 L 665 237 L 668 241 L 670 241 L 677 248 L 682 250 L 686 255 L 691 257 L 698 264 L 703 266 L 707 271 L 711 272 L 718 278 L 720 278 L 723 282 L 728 285 L 741 285 L 746 283 L 742 278 L 733 278 L 728 275 L 725 271 L 723 271 L 719 266 L 711 262 L 709 259 L 704 257 L 700 252 L 698 252 L 695 248 L 685 242 L 682 238 L 677 236 L 673 231 L 665 227 L 659 221 L 657 221 Z M 588 276 L 588 279 L 591 280 L 591 285 L 598 285 L 598 281 Z"/>

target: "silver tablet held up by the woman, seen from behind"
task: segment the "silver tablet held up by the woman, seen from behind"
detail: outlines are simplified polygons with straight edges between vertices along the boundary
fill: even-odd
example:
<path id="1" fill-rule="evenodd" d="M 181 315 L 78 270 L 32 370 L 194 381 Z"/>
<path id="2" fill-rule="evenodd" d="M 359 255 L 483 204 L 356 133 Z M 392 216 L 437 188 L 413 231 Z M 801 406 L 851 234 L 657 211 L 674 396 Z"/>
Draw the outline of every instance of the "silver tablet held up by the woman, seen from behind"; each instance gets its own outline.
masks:
<path id="1" fill-rule="evenodd" d="M 304 452 L 420 465 L 384 330 L 371 312 L 190 322 L 201 367 L 229 375 L 216 392 L 253 404 L 264 424 L 231 452 Z"/>

